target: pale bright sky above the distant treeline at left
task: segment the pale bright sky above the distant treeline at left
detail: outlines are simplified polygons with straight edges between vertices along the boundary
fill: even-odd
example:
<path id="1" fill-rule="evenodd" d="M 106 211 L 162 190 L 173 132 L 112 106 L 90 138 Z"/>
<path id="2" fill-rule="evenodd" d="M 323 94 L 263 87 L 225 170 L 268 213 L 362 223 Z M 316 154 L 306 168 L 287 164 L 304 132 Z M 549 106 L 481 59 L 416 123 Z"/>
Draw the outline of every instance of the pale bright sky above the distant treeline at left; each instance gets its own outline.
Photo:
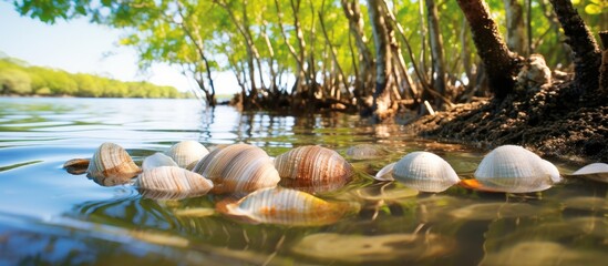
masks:
<path id="1" fill-rule="evenodd" d="M 173 85 L 179 91 L 195 88 L 179 70 L 156 64 L 147 74 L 138 73 L 135 51 L 117 47 L 121 31 L 90 24 L 86 19 L 45 24 L 20 17 L 11 3 L 0 1 L 0 51 L 25 60 L 33 65 L 62 69 L 68 72 L 100 74 L 123 81 L 146 80 L 159 85 Z M 228 73 L 219 73 L 218 93 L 237 90 Z"/>

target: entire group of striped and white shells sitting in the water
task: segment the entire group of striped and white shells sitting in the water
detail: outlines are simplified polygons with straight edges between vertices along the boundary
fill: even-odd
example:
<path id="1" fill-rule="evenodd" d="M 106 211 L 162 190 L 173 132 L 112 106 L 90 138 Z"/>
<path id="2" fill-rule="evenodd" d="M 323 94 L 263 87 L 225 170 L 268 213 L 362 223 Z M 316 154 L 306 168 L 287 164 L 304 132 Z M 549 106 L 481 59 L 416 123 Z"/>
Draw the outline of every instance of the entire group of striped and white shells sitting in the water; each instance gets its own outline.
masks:
<path id="1" fill-rule="evenodd" d="M 385 153 L 361 145 L 349 149 L 347 156 L 365 160 Z M 123 147 L 104 143 L 91 160 L 71 160 L 64 167 L 71 173 L 86 167 L 80 172 L 105 186 L 133 183 L 142 195 L 155 200 L 208 193 L 237 195 L 219 202 L 217 209 L 251 223 L 322 225 L 357 209 L 352 204 L 328 202 L 307 193 L 337 190 L 354 175 L 352 165 L 339 153 L 317 145 L 296 147 L 272 158 L 249 144 L 225 145 L 209 152 L 198 142 L 184 141 L 165 153 L 146 157 L 140 167 Z M 566 176 L 607 182 L 608 164 L 591 164 Z M 443 192 L 453 185 L 529 193 L 561 181 L 555 165 L 516 145 L 499 146 L 486 154 L 474 177 L 461 180 L 445 160 L 430 152 L 409 153 L 374 176 L 380 182 L 396 181 L 427 193 Z"/>

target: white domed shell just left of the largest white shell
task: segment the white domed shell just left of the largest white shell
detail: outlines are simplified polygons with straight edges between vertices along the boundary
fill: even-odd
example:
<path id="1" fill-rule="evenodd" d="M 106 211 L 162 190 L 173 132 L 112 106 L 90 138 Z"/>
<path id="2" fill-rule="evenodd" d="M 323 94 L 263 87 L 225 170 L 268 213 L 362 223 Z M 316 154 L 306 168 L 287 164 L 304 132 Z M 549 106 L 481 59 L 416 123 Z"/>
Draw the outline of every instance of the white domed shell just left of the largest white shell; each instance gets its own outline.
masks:
<path id="1" fill-rule="evenodd" d="M 442 157 L 430 152 L 413 152 L 393 167 L 393 178 L 421 192 L 442 192 L 460 182 L 458 175 Z"/>

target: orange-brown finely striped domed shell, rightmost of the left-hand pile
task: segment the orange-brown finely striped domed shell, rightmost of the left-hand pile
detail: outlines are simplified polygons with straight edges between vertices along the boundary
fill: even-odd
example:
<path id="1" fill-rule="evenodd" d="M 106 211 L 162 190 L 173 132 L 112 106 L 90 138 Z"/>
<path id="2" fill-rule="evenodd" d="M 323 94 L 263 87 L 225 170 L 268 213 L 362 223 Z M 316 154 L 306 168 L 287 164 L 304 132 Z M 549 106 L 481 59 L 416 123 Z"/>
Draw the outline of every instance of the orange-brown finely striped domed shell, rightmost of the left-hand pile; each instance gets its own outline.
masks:
<path id="1" fill-rule="evenodd" d="M 291 178 L 300 186 L 346 184 L 354 173 L 340 154 L 317 145 L 300 146 L 277 156 L 275 167 L 281 178 Z"/>

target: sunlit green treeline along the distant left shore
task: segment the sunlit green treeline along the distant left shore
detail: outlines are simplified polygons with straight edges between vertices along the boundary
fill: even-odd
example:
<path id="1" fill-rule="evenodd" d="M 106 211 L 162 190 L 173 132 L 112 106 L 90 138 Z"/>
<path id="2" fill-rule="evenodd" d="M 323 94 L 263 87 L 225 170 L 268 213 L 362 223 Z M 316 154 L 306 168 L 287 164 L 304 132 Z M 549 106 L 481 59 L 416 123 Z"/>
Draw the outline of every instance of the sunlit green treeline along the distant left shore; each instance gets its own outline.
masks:
<path id="1" fill-rule="evenodd" d="M 173 86 L 121 82 L 91 74 L 28 66 L 21 60 L 0 59 L 0 94 L 73 95 L 85 98 L 186 98 Z M 192 95 L 189 95 L 192 96 Z"/>

